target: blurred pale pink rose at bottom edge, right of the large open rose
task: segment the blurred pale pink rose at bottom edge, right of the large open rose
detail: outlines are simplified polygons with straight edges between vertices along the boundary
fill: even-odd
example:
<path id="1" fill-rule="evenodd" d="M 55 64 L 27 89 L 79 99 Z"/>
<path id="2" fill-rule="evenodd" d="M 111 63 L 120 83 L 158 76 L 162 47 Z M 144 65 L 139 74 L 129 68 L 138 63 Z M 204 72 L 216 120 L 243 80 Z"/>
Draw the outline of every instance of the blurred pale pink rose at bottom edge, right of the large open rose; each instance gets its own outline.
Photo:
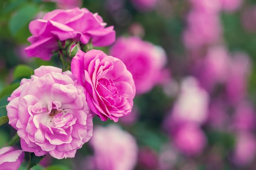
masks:
<path id="1" fill-rule="evenodd" d="M 94 128 L 89 144 L 94 150 L 97 170 L 133 170 L 137 163 L 136 140 L 119 126 Z"/>

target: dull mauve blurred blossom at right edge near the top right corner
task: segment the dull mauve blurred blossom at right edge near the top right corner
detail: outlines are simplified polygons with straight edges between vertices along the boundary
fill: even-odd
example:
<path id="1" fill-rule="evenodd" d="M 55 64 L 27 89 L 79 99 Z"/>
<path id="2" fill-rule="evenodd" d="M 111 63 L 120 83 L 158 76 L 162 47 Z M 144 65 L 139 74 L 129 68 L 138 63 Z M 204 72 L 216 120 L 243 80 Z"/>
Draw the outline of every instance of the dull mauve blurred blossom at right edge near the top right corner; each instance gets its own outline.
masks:
<path id="1" fill-rule="evenodd" d="M 256 6 L 245 7 L 242 11 L 241 20 L 246 31 L 256 32 Z"/>

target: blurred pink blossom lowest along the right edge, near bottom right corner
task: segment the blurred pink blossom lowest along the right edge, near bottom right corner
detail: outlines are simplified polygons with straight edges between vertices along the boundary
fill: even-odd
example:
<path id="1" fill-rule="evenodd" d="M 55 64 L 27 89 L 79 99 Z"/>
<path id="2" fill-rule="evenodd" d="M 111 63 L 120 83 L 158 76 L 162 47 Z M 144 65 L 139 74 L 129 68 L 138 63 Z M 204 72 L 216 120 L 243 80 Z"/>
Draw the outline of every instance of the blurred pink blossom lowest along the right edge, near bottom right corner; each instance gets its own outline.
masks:
<path id="1" fill-rule="evenodd" d="M 237 136 L 235 150 L 233 153 L 234 163 L 239 166 L 246 166 L 254 160 L 256 155 L 255 153 L 255 135 L 246 131 L 240 132 Z"/>

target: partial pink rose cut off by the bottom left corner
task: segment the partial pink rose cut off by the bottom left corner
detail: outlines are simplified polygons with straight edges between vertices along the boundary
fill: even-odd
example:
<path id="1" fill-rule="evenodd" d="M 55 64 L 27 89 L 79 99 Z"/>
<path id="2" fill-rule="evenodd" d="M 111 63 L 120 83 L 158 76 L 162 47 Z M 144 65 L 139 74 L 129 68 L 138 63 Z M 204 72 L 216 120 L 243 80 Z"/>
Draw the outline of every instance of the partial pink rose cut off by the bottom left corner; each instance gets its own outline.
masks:
<path id="1" fill-rule="evenodd" d="M 23 150 L 15 150 L 12 146 L 0 149 L 0 170 L 18 170 L 24 157 Z"/>

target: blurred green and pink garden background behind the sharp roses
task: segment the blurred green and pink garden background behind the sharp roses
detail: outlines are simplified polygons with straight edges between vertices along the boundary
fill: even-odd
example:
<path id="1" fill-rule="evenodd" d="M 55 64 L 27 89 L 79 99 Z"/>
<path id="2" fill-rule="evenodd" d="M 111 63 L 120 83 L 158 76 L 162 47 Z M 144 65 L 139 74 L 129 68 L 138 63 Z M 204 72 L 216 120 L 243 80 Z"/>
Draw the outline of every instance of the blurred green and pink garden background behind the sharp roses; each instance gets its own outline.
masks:
<path id="1" fill-rule="evenodd" d="M 4 0 L 0 7 L 0 106 L 29 78 L 18 68 L 61 67 L 58 57 L 24 51 L 29 22 L 54 9 L 99 13 L 117 41 L 96 49 L 123 60 L 135 79 L 130 115 L 117 123 L 94 117 L 94 136 L 75 158 L 46 155 L 34 169 L 256 169 L 256 0 Z M 0 148 L 15 133 L 0 126 Z"/>

